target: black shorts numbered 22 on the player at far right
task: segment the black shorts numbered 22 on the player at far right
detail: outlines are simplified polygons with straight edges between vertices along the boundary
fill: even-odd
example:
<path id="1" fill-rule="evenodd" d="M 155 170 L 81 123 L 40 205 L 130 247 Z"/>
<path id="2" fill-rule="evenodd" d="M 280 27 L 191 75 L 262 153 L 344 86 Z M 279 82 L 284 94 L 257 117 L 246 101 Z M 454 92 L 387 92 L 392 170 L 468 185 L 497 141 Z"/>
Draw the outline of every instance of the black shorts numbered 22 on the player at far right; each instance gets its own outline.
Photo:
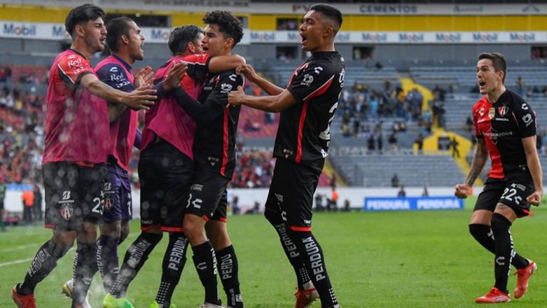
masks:
<path id="1" fill-rule="evenodd" d="M 515 211 L 517 217 L 530 215 L 530 203 L 526 198 L 533 193 L 531 179 L 487 179 L 484 188 L 476 199 L 474 211 L 494 212 L 498 203 L 503 203 Z"/>

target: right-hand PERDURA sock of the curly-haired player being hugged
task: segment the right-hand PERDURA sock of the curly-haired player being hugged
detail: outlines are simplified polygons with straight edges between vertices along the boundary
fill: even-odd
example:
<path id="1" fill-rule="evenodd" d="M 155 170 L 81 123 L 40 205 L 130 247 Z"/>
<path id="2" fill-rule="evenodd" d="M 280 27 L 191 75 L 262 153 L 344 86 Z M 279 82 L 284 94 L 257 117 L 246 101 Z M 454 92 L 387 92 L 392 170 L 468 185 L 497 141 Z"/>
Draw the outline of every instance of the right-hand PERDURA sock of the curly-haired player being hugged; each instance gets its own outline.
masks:
<path id="1" fill-rule="evenodd" d="M 223 250 L 217 250 L 217 266 L 219 267 L 220 281 L 231 308 L 244 308 L 243 298 L 239 290 L 237 257 L 234 246 L 229 245 Z"/>

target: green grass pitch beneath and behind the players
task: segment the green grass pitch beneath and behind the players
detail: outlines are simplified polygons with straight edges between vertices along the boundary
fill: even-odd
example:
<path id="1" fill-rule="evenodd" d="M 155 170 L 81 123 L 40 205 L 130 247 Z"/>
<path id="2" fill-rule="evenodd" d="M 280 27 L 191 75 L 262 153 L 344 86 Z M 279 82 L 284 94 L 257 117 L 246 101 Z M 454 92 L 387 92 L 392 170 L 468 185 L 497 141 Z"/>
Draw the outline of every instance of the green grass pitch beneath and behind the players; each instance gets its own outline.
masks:
<path id="1" fill-rule="evenodd" d="M 475 297 L 494 285 L 494 257 L 469 235 L 467 225 L 474 200 L 464 211 L 414 211 L 377 213 L 319 213 L 313 232 L 325 253 L 330 280 L 344 308 L 476 307 Z M 547 307 L 547 210 L 535 208 L 535 216 L 517 221 L 512 230 L 516 250 L 538 262 L 539 270 L 528 293 L 510 307 Z M 120 259 L 138 233 L 121 245 Z M 263 216 L 229 218 L 231 239 L 239 259 L 239 278 L 247 308 L 293 307 L 296 278 L 278 237 Z M 0 233 L 0 307 L 15 307 L 11 287 L 24 277 L 31 257 L 51 237 L 41 227 L 10 228 Z M 128 297 L 137 308 L 147 308 L 160 282 L 162 255 L 167 236 L 132 282 Z M 38 307 L 69 307 L 61 285 L 71 277 L 74 251 L 36 289 Z M 195 308 L 203 291 L 188 253 L 186 269 L 173 303 Z M 19 261 L 19 262 L 18 262 Z M 509 290 L 516 277 L 509 277 Z M 220 294 L 225 301 L 219 283 Z M 100 307 L 104 296 L 95 276 L 90 302 Z M 321 307 L 316 302 L 313 307 Z"/>

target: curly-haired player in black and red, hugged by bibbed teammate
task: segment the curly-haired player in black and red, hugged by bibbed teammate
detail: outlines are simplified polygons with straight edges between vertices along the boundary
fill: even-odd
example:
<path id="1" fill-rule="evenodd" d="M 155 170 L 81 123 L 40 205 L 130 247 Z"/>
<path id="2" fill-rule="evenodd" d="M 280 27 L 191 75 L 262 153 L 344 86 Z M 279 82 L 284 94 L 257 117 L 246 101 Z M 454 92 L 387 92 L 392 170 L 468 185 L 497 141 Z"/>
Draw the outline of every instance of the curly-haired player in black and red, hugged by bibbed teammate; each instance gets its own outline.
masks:
<path id="1" fill-rule="evenodd" d="M 212 11 L 203 18 L 207 24 L 203 47 L 212 57 L 231 55 L 231 50 L 243 37 L 241 21 L 229 11 Z M 197 122 L 194 139 L 196 174 L 190 189 L 184 233 L 194 252 L 199 279 L 205 288 L 203 307 L 220 307 L 217 293 L 217 268 L 228 307 L 243 308 L 239 290 L 238 264 L 226 228 L 226 187 L 236 165 L 236 132 L 241 107 L 228 105 L 228 92 L 243 85 L 235 70 L 212 74 L 203 84 L 199 102 L 181 89 L 177 101 Z M 207 231 L 207 238 L 203 230 Z M 215 265 L 216 263 L 216 265 Z M 202 266 L 202 265 L 207 266 Z"/>

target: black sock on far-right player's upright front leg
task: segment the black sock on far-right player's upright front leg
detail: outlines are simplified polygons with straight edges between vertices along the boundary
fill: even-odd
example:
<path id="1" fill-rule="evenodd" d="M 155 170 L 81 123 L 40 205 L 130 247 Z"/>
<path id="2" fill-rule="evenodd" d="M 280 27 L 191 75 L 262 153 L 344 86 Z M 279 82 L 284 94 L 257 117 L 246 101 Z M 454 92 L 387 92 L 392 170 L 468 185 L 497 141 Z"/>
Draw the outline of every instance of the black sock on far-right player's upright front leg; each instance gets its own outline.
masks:
<path id="1" fill-rule="evenodd" d="M 513 238 L 511 237 L 511 222 L 503 215 L 494 213 L 491 221 L 492 231 L 496 239 L 496 258 L 494 259 L 494 272 L 496 275 L 496 285 L 501 292 L 507 291 L 507 278 L 511 265 L 511 255 L 513 253 Z"/>

